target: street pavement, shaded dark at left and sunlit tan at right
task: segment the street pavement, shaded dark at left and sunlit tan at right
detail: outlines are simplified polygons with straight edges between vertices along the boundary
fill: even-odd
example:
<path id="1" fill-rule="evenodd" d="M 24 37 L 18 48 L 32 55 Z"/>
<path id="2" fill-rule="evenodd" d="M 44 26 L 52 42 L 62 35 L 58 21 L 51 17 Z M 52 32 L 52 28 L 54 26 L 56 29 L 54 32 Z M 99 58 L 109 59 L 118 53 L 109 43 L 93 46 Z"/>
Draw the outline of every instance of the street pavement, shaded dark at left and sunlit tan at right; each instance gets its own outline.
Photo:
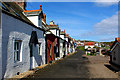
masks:
<path id="1" fill-rule="evenodd" d="M 84 52 L 79 50 L 27 78 L 118 78 L 117 73 L 104 65 L 109 61 L 108 57 L 83 55 Z"/>

